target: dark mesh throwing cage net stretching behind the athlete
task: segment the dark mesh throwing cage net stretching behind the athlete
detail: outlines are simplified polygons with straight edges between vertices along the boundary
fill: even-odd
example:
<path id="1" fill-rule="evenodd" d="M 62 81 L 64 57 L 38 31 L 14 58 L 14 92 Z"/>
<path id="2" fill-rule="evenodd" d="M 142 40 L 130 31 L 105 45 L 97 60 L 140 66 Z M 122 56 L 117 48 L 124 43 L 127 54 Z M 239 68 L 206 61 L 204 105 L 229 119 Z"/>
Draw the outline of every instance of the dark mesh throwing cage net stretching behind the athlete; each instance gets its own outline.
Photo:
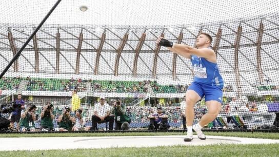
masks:
<path id="1" fill-rule="evenodd" d="M 0 114 L 16 131 L 185 129 L 192 64 L 155 41 L 195 47 L 201 32 L 224 79 L 221 112 L 205 129 L 279 126 L 278 1 L 0 4 Z M 205 99 L 194 109 L 195 124 Z"/>

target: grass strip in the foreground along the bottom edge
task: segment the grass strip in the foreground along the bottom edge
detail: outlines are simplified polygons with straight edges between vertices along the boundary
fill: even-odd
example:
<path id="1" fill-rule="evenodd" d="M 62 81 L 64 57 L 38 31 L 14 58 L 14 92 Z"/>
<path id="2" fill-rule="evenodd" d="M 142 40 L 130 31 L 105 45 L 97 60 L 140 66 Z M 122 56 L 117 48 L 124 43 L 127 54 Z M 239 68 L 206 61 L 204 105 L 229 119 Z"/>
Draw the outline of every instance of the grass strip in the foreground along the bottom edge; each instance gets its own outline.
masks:
<path id="1" fill-rule="evenodd" d="M 278 156 L 278 144 L 0 151 L 0 156 Z M 42 155 L 43 153 L 43 155 Z"/>

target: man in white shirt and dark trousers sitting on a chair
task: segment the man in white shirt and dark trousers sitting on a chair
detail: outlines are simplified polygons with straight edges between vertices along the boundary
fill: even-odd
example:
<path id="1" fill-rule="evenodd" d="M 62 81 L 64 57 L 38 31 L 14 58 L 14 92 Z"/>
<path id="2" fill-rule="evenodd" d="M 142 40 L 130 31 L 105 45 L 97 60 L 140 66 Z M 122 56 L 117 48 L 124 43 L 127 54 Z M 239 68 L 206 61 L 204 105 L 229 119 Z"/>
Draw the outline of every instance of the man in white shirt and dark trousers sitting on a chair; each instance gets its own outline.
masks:
<path id="1" fill-rule="evenodd" d="M 97 129 L 97 122 L 109 122 L 109 130 L 113 130 L 114 116 L 110 115 L 110 106 L 105 102 L 105 97 L 101 97 L 100 102 L 94 106 L 94 115 L 92 115 L 92 130 Z"/>

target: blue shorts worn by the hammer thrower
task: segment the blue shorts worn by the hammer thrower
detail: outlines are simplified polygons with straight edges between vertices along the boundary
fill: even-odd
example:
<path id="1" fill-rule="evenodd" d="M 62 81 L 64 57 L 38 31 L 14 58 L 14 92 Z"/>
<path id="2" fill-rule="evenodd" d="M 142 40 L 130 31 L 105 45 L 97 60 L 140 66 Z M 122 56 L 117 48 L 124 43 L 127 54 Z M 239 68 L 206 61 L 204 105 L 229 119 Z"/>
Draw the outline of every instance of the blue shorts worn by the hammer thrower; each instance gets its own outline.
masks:
<path id="1" fill-rule="evenodd" d="M 223 91 L 218 86 L 211 86 L 203 83 L 192 82 L 187 90 L 193 90 L 203 98 L 205 96 L 205 102 L 218 101 L 222 104 Z"/>

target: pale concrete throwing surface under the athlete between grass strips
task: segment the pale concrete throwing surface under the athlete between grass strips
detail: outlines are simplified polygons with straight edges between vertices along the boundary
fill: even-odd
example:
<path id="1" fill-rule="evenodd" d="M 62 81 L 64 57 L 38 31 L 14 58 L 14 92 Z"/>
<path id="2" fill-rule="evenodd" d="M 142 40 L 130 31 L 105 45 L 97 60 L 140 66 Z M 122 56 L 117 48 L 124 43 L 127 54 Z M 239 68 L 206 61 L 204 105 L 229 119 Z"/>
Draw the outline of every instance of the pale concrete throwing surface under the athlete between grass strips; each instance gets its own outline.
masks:
<path id="1" fill-rule="evenodd" d="M 51 137 L 51 138 L 0 138 L 1 150 L 49 150 L 112 147 L 155 147 L 173 145 L 216 145 L 216 144 L 279 144 L 279 140 L 206 136 L 200 140 L 194 135 L 191 142 L 184 142 L 185 135 L 171 136 L 94 136 L 94 137 Z M 28 147 L 26 146 L 28 144 Z"/>

